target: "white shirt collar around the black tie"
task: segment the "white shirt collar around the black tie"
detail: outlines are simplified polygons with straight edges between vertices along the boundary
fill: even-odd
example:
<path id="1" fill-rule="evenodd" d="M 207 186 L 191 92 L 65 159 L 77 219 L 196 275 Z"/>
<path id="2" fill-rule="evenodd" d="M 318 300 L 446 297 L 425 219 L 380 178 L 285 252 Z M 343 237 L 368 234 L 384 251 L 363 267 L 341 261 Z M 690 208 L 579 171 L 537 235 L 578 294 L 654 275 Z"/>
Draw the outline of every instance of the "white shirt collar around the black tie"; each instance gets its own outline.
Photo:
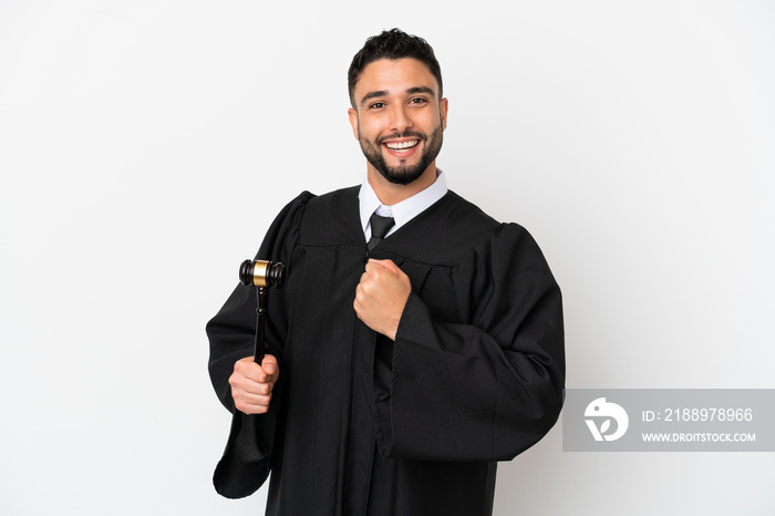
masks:
<path id="1" fill-rule="evenodd" d="M 368 180 L 368 176 L 363 178 L 361 190 L 358 194 L 360 211 L 361 211 L 361 228 L 366 237 L 371 237 L 371 228 L 369 227 L 369 218 L 378 210 L 378 208 L 388 208 L 391 211 L 395 226 L 388 231 L 388 236 L 396 231 L 401 226 L 412 220 L 430 208 L 434 203 L 444 197 L 447 193 L 446 180 L 444 173 L 437 169 L 436 180 L 431 186 L 422 192 L 417 192 L 412 197 L 396 203 L 393 206 L 383 206 L 380 198 L 374 193 Z M 385 215 L 384 209 L 380 210 L 380 215 Z"/>

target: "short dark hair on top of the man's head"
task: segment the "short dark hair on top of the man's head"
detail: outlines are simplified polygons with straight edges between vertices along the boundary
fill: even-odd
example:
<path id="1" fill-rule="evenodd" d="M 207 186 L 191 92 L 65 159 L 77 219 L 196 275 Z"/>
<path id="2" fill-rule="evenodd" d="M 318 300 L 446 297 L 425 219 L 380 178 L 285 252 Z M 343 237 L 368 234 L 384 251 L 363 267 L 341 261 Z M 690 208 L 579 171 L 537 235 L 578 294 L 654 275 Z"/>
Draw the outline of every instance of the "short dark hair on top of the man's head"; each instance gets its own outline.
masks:
<path id="1" fill-rule="evenodd" d="M 424 39 L 407 34 L 400 29 L 391 29 L 382 31 L 379 35 L 373 35 L 366 40 L 363 48 L 358 51 L 350 70 L 348 71 L 348 89 L 350 92 L 350 102 L 355 107 L 355 84 L 361 79 L 363 70 L 374 61 L 380 59 L 399 60 L 403 58 L 413 58 L 423 62 L 438 82 L 438 97 L 442 95 L 442 68 L 436 61 L 436 55 L 433 53 L 433 48 Z"/>

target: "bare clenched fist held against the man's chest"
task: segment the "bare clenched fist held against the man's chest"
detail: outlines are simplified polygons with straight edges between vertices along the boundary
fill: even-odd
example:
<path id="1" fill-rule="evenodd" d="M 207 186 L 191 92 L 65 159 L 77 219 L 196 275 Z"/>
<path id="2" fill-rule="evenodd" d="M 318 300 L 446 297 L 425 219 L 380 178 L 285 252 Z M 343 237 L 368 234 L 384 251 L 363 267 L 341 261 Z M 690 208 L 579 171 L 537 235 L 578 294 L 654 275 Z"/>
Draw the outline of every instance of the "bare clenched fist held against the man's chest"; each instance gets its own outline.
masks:
<path id="1" fill-rule="evenodd" d="M 355 288 L 353 307 L 369 328 L 395 340 L 411 291 L 409 276 L 392 260 L 371 259 Z"/>

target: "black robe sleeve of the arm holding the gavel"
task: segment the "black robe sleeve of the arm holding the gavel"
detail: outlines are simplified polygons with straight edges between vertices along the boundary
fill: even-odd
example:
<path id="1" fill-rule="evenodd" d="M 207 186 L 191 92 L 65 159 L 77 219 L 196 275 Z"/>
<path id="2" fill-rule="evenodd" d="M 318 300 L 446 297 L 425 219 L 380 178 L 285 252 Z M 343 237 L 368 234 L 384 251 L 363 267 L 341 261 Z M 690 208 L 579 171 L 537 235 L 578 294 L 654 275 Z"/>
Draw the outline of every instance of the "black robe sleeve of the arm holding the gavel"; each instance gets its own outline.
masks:
<path id="1" fill-rule="evenodd" d="M 299 223 L 310 197 L 312 195 L 304 192 L 280 211 L 267 231 L 256 259 L 282 262 L 286 274 L 290 274 L 290 257 L 298 244 Z M 266 305 L 265 349 L 267 354 L 277 357 L 280 368 L 280 376 L 266 414 L 246 415 L 237 411 L 228 382 L 235 362 L 254 352 L 258 307 L 256 288 L 238 285 L 206 327 L 210 342 L 210 380 L 218 399 L 232 413 L 226 450 L 213 478 L 216 491 L 228 498 L 252 494 L 268 477 L 276 430 L 282 412 L 283 379 L 288 376 L 282 374 L 282 351 L 288 328 L 282 287 L 269 289 Z"/>

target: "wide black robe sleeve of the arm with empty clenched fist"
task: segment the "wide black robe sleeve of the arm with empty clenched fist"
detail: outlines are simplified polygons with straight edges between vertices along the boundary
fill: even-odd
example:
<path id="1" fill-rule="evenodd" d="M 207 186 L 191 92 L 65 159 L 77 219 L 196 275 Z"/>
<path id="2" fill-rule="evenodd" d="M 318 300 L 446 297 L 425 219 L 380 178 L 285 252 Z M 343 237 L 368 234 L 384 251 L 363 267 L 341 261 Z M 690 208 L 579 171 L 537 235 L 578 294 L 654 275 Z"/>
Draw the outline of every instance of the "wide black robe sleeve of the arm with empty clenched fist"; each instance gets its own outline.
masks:
<path id="1" fill-rule="evenodd" d="M 392 385 L 376 402 L 382 456 L 512 460 L 559 416 L 561 295 L 535 240 L 499 225 L 452 275 L 464 323 L 434 320 L 414 291 L 404 308 Z"/>

